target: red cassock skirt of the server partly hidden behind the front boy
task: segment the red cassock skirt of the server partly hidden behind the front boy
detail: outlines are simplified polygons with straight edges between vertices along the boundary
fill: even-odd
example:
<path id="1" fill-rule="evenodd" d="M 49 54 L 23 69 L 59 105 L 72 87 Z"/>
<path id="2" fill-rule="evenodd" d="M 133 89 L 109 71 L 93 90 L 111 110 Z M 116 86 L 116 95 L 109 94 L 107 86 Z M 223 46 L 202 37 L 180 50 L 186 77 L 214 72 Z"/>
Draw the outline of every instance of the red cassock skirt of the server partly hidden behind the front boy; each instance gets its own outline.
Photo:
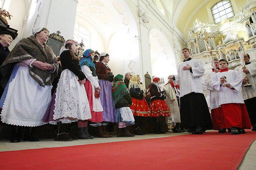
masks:
<path id="1" fill-rule="evenodd" d="M 214 130 L 225 128 L 224 117 L 221 108 L 211 110 L 212 126 Z"/>

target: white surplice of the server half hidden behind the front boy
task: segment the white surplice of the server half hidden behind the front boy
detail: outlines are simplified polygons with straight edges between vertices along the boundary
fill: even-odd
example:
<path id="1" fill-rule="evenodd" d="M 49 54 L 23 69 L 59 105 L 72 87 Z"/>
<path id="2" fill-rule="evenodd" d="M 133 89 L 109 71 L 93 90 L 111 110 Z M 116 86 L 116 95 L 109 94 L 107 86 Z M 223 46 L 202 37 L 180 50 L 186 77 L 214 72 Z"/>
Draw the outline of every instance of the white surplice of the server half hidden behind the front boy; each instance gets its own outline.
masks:
<path id="1" fill-rule="evenodd" d="M 212 87 L 212 78 L 215 76 L 215 72 L 208 73 L 205 77 L 204 84 L 206 89 L 210 91 L 210 108 L 216 109 L 219 105 L 219 91 Z"/>

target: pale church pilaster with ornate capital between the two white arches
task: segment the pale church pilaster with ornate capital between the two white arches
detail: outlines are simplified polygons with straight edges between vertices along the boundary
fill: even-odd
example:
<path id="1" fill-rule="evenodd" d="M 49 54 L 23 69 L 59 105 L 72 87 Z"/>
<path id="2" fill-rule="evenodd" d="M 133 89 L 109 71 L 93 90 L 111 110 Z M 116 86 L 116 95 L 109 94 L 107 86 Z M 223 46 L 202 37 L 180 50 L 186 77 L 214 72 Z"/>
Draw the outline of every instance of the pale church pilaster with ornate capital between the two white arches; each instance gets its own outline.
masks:
<path id="1" fill-rule="evenodd" d="M 148 26 L 149 17 L 147 16 L 147 12 L 140 5 L 137 6 L 138 16 L 139 16 L 139 51 L 140 51 L 140 72 L 141 74 L 141 82 L 144 82 L 144 75 L 148 72 L 149 75 L 152 75 L 152 66 L 151 66 L 151 57 L 150 57 L 150 44 L 148 37 Z M 143 81 L 142 81 L 143 80 Z"/>

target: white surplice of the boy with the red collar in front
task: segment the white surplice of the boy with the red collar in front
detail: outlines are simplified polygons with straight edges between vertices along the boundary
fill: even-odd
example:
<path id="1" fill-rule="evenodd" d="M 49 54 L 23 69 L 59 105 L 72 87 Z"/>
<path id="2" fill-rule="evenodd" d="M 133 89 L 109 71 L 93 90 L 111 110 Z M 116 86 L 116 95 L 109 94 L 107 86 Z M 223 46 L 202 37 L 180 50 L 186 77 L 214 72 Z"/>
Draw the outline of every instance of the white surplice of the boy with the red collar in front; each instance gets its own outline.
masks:
<path id="1" fill-rule="evenodd" d="M 230 88 L 223 87 L 220 83 L 220 77 L 227 77 L 227 84 Z M 219 91 L 219 105 L 227 103 L 244 103 L 241 94 L 243 76 L 235 70 L 228 70 L 224 72 L 218 72 L 212 78 L 212 87 Z M 231 89 L 234 88 L 234 89 Z"/>

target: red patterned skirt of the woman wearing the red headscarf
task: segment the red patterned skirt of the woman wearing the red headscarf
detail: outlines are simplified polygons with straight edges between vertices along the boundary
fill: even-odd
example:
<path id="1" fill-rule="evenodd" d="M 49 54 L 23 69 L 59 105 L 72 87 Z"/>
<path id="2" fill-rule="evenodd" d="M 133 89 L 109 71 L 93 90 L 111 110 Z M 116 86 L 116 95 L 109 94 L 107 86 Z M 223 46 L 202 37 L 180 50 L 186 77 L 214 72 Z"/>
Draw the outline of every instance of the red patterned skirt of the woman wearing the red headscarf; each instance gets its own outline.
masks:
<path id="1" fill-rule="evenodd" d="M 154 100 L 153 102 L 150 103 L 150 112 L 151 116 L 153 117 L 158 117 L 158 116 L 170 116 L 170 110 L 165 103 L 164 100 Z"/>

